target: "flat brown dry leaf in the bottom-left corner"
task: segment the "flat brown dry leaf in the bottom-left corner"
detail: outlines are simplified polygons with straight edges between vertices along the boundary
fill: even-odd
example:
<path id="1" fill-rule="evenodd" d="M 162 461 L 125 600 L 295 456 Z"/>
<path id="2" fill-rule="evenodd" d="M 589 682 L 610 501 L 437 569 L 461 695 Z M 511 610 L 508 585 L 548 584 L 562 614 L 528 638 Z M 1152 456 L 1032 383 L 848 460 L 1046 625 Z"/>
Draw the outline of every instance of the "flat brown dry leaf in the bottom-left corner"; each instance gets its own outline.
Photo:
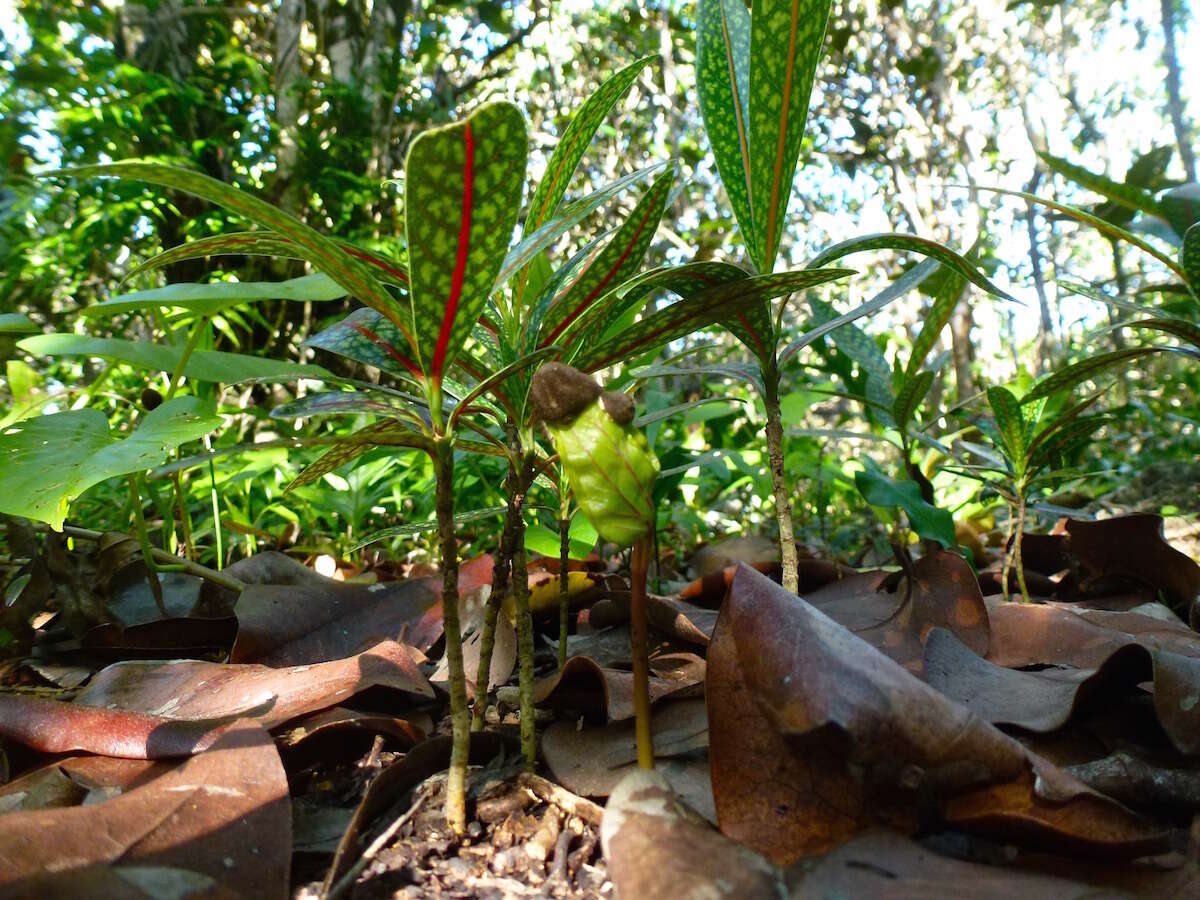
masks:
<path id="1" fill-rule="evenodd" d="M 292 805 L 278 752 L 262 726 L 241 721 L 206 752 L 88 806 L 0 816 L 0 888 L 91 865 L 196 872 L 224 895 L 288 894 Z"/>

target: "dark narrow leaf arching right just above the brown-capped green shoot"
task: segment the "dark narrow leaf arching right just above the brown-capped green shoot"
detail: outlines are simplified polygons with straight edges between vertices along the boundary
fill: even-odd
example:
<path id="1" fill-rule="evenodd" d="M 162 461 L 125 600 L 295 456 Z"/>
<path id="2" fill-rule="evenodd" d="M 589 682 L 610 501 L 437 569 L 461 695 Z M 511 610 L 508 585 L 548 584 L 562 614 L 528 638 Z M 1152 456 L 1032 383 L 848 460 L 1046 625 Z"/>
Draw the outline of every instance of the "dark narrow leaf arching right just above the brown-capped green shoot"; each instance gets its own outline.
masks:
<path id="1" fill-rule="evenodd" d="M 607 337 L 604 346 L 584 347 L 572 360 L 572 365 L 594 372 L 714 322 L 727 325 L 738 312 L 751 304 L 773 300 L 802 288 L 815 287 L 853 274 L 851 269 L 804 270 L 756 275 L 718 284 L 650 313 L 619 334 Z"/>

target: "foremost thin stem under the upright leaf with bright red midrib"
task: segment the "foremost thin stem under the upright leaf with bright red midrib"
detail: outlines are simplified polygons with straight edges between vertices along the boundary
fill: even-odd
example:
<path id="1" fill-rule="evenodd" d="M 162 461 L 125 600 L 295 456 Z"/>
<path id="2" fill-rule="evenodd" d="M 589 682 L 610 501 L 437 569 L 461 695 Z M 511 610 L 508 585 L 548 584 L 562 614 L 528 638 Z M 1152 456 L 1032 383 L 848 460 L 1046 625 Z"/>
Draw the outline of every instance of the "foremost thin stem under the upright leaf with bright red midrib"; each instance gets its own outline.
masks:
<path id="1" fill-rule="evenodd" d="M 462 624 L 458 622 L 458 536 L 454 526 L 454 440 L 439 436 L 433 443 L 437 480 L 438 538 L 442 544 L 442 618 L 446 637 L 450 682 L 450 769 L 446 773 L 446 824 L 455 834 L 467 830 L 467 758 L 470 751 L 470 713 L 467 676 L 462 664 Z"/>

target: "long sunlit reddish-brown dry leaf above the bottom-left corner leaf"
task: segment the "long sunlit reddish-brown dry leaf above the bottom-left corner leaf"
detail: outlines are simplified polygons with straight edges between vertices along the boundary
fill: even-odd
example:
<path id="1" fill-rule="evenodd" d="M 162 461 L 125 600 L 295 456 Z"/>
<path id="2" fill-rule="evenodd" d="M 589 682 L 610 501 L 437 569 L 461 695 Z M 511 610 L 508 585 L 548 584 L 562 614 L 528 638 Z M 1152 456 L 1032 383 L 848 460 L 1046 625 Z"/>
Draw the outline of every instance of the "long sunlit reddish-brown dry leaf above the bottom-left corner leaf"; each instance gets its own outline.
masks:
<path id="1" fill-rule="evenodd" d="M 348 659 L 288 668 L 199 660 L 118 662 L 102 670 L 76 703 L 167 719 L 248 716 L 274 728 L 378 686 L 433 696 L 409 649 L 384 641 Z"/>

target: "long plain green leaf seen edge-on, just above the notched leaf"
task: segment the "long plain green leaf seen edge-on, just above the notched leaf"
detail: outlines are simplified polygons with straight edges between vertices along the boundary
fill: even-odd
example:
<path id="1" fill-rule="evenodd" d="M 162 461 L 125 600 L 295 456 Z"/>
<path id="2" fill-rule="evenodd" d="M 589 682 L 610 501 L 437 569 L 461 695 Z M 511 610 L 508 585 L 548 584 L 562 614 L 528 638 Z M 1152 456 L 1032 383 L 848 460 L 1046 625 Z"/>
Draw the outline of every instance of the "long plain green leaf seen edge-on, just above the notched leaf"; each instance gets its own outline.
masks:
<path id="1" fill-rule="evenodd" d="M 181 347 L 71 334 L 36 335 L 26 337 L 17 346 L 26 353 L 40 356 L 98 356 L 154 372 L 174 372 L 184 354 Z M 194 350 L 184 367 L 184 374 L 197 382 L 235 384 L 247 379 L 278 382 L 296 378 L 320 379 L 329 372 L 320 366 L 287 360 L 246 356 L 222 350 Z"/>

